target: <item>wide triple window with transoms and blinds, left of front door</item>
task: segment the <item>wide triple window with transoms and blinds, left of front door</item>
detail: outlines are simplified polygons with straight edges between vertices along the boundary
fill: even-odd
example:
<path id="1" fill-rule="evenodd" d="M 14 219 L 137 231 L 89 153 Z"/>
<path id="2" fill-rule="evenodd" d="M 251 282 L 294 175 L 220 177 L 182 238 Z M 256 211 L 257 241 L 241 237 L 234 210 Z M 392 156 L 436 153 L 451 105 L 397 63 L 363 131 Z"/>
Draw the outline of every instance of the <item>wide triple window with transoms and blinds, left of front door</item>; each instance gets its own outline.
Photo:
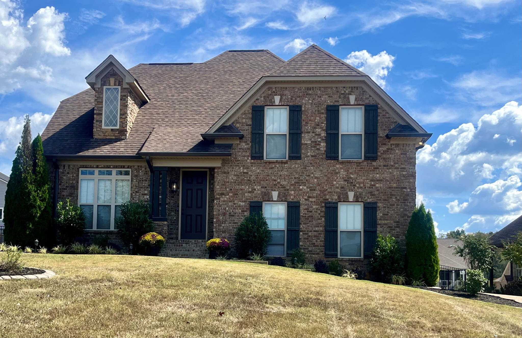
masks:
<path id="1" fill-rule="evenodd" d="M 131 169 L 80 169 L 79 206 L 86 229 L 114 230 L 120 205 L 131 199 Z"/>

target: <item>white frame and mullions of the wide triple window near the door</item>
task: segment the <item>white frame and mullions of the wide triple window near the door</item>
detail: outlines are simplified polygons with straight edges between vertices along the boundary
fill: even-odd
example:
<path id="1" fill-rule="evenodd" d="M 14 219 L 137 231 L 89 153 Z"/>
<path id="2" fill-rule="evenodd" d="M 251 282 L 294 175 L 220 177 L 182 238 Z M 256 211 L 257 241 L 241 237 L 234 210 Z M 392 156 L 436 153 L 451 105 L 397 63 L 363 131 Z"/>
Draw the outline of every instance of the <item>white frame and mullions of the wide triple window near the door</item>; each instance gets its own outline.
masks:
<path id="1" fill-rule="evenodd" d="M 94 170 L 94 175 L 82 175 L 81 170 Z M 112 176 L 99 175 L 98 170 L 112 170 Z M 116 176 L 116 170 L 129 170 L 129 176 Z M 129 180 L 129 199 L 131 198 L 131 190 L 132 190 L 132 169 L 131 168 L 80 168 L 78 171 L 78 206 L 80 205 L 92 205 L 92 229 L 93 231 L 114 231 L 114 213 L 116 211 L 115 206 L 121 205 L 120 203 L 116 203 L 116 179 L 117 180 Z M 93 202 L 90 203 L 80 203 L 81 196 L 81 180 L 82 179 L 93 179 L 94 180 L 94 196 Z M 108 180 L 112 179 L 112 187 L 111 187 L 111 203 L 98 203 L 98 180 Z M 97 229 L 97 221 L 98 221 L 98 205 L 110 205 L 111 206 L 111 227 L 110 229 Z"/>

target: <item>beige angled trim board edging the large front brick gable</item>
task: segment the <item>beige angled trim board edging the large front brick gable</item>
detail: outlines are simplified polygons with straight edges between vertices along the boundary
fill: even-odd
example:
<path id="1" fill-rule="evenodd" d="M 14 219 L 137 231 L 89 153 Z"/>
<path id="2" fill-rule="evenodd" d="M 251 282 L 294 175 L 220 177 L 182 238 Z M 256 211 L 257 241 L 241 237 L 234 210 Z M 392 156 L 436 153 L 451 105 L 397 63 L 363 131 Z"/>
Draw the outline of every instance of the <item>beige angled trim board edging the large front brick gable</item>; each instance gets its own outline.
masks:
<path id="1" fill-rule="evenodd" d="M 303 82 L 314 82 L 314 86 L 339 86 L 342 83 L 360 85 L 372 95 L 378 104 L 382 105 L 398 122 L 401 124 L 409 124 L 418 132 L 425 133 L 424 128 L 420 126 L 408 113 L 402 109 L 386 92 L 379 87 L 369 76 L 286 76 L 262 77 L 257 81 L 246 93 L 234 103 L 223 116 L 221 116 L 207 133 L 215 132 L 219 127 L 232 123 L 243 112 L 244 107 L 251 105 L 255 101 L 256 93 L 262 93 L 268 86 L 298 86 Z M 379 97 L 380 96 L 380 97 Z"/>

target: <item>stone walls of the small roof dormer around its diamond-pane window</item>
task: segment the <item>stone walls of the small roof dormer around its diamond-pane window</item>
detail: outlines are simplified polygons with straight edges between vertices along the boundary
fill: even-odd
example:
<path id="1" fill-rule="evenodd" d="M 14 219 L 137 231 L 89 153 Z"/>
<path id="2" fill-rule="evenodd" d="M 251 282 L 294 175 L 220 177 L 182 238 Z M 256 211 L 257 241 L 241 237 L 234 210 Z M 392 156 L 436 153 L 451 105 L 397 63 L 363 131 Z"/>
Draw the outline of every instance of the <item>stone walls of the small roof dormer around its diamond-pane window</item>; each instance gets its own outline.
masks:
<path id="1" fill-rule="evenodd" d="M 111 82 L 112 80 L 112 82 Z M 112 84 L 111 84 L 112 83 Z M 103 87 L 120 86 L 120 127 L 103 127 Z M 94 121 L 92 135 L 94 139 L 126 139 L 138 114 L 141 102 L 129 88 L 123 87 L 123 79 L 111 69 L 101 78 L 101 87 L 94 89 Z"/>

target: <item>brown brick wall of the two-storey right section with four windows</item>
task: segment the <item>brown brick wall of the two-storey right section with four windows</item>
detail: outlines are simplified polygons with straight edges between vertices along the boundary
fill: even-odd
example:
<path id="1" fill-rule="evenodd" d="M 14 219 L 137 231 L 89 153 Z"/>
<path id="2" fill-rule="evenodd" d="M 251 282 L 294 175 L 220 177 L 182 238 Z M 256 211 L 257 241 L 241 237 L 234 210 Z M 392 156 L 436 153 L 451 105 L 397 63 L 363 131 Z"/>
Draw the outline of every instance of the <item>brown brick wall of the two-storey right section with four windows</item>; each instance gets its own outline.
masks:
<path id="1" fill-rule="evenodd" d="M 302 159 L 251 160 L 251 107 L 233 123 L 245 135 L 232 156 L 215 172 L 213 236 L 233 240 L 234 230 L 249 212 L 249 201 L 301 202 L 300 244 L 307 261 L 323 259 L 325 201 L 377 202 L 379 233 L 405 234 L 415 204 L 415 144 L 392 144 L 385 134 L 397 121 L 379 105 L 377 160 L 326 160 L 326 105 L 377 104 L 359 86 L 268 87 L 252 105 L 302 105 Z M 329 258 L 328 260 L 331 260 Z M 363 267 L 367 259 L 343 259 L 347 267 Z"/>

